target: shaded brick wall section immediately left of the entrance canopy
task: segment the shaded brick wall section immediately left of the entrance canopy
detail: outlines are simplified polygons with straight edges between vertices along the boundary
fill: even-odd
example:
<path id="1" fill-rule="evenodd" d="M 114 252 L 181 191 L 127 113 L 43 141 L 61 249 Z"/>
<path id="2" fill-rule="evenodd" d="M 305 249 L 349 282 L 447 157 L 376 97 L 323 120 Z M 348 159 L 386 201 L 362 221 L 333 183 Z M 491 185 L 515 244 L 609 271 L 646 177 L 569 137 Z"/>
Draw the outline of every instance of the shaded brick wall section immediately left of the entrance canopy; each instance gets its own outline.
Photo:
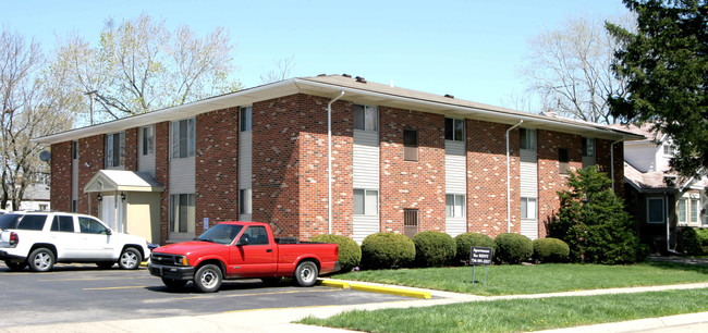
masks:
<path id="1" fill-rule="evenodd" d="M 84 187 L 98 171 L 106 166 L 105 141 L 106 136 L 102 134 L 78 139 L 78 212 L 98 215 L 99 203 L 96 200 L 97 196 L 96 194 L 84 194 Z"/>

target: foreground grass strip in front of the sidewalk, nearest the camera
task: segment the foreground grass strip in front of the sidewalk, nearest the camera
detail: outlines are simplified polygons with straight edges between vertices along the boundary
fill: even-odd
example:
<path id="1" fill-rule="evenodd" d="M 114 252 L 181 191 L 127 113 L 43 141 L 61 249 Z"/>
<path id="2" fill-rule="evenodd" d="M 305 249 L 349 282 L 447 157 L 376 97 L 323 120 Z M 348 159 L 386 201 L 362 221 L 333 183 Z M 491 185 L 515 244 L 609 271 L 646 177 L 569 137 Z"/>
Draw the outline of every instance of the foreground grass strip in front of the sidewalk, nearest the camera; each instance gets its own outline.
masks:
<path id="1" fill-rule="evenodd" d="M 517 332 L 708 311 L 708 288 L 602 296 L 476 301 L 351 311 L 305 324 L 366 332 Z"/>

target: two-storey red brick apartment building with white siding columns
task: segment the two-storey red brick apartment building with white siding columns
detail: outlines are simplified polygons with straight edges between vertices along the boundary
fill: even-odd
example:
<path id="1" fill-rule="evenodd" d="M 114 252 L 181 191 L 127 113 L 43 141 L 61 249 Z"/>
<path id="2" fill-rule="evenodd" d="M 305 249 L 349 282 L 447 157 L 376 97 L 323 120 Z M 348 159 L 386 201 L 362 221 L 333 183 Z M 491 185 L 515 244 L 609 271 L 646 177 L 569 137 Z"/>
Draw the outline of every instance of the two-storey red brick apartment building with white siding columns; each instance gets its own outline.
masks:
<path id="1" fill-rule="evenodd" d="M 598 164 L 622 193 L 621 141 L 639 138 L 320 75 L 36 141 L 51 145 L 54 209 L 164 244 L 228 220 L 268 222 L 278 236 L 303 239 L 422 231 L 542 237 L 567 170 Z"/>

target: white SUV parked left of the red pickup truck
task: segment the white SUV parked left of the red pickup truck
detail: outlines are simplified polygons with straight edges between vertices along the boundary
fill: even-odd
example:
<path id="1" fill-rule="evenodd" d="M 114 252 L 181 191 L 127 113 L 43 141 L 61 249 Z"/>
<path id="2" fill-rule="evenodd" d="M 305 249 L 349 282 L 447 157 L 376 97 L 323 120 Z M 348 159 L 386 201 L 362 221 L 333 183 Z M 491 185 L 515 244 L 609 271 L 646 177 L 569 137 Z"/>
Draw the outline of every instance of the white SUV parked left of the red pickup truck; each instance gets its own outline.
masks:
<path id="1" fill-rule="evenodd" d="M 90 215 L 64 212 L 9 212 L 0 217 L 0 260 L 13 271 L 51 270 L 54 262 L 95 262 L 126 270 L 150 255 L 143 237 L 115 233 Z"/>

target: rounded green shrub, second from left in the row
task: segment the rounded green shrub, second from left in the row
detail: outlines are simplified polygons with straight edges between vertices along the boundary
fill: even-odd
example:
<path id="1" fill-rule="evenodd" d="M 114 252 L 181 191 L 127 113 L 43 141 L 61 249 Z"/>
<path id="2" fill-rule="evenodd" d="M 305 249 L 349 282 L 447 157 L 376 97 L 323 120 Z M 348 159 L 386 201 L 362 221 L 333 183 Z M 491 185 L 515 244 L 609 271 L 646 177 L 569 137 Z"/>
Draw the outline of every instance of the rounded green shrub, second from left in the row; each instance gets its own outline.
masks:
<path id="1" fill-rule="evenodd" d="M 370 234 L 362 242 L 362 267 L 392 269 L 408 267 L 415 260 L 415 244 L 405 235 Z"/>

